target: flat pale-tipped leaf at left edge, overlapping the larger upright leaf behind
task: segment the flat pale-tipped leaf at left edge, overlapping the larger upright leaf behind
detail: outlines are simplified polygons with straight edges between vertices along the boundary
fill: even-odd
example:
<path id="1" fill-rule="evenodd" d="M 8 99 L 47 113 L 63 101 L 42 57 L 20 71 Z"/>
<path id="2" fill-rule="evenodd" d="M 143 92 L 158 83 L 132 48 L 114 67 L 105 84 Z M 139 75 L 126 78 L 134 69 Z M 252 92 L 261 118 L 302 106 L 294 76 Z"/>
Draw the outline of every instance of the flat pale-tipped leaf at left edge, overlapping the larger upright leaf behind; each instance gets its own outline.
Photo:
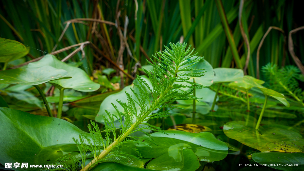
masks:
<path id="1" fill-rule="evenodd" d="M 37 68 L 16 68 L 0 71 L 0 84 L 17 83 L 22 85 L 39 85 L 58 79 L 69 79 L 67 71 L 51 66 Z"/>

